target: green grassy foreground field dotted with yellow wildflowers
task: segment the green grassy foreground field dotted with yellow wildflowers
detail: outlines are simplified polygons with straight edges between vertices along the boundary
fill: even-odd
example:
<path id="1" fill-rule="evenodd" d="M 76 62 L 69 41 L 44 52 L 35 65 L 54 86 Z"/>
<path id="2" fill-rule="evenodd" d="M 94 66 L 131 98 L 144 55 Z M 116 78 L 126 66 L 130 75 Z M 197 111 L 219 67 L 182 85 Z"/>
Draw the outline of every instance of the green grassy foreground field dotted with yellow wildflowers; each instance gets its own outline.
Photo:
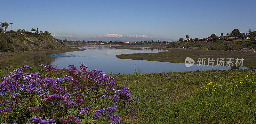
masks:
<path id="1" fill-rule="evenodd" d="M 132 103 L 120 113 L 121 123 L 256 123 L 255 74 L 209 70 L 111 76 L 131 90 Z"/>

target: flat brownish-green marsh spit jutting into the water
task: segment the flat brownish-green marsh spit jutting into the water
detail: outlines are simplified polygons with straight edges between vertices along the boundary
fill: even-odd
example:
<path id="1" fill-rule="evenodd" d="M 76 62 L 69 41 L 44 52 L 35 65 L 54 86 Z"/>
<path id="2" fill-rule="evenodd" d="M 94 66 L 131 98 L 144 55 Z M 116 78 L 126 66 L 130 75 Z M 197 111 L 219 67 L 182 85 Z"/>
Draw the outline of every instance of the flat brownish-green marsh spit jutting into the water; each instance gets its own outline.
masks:
<path id="1" fill-rule="evenodd" d="M 214 58 L 214 60 L 217 60 L 217 58 L 244 58 L 243 66 L 256 66 L 255 52 L 197 50 L 181 48 L 167 48 L 166 50 L 168 50 L 168 52 L 121 54 L 116 55 L 116 57 L 119 59 L 149 60 L 175 63 L 185 63 L 186 57 L 194 59 L 195 63 L 197 63 L 198 58 L 206 58 L 206 64 L 208 62 L 208 58 Z"/>

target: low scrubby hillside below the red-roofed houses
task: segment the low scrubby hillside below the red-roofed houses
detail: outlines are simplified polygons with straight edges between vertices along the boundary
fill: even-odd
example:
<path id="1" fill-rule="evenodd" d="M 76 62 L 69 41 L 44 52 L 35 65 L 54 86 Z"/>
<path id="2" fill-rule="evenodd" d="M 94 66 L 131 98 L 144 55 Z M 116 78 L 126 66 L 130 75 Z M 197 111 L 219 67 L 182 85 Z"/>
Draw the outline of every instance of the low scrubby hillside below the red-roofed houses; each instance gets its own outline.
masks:
<path id="1" fill-rule="evenodd" d="M 235 51 L 255 51 L 256 42 L 241 39 L 233 41 L 178 41 L 173 42 L 171 48 L 192 48 L 192 49 L 210 49 L 210 50 L 235 50 Z"/>

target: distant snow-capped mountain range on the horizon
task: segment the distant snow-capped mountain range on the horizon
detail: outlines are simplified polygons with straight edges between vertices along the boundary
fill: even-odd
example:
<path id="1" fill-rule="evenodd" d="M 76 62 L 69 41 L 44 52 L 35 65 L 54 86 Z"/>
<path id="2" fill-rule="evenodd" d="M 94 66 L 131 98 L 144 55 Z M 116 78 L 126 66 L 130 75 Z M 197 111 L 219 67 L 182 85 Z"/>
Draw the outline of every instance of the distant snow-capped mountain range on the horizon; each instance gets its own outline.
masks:
<path id="1" fill-rule="evenodd" d="M 94 41 L 177 41 L 174 39 L 164 39 L 164 38 L 153 38 L 153 37 L 149 37 L 147 35 L 119 35 L 119 34 L 107 34 L 107 35 L 103 35 L 103 36 L 86 36 L 86 37 L 76 37 L 76 36 L 72 36 L 72 35 L 57 35 L 57 34 L 53 34 L 53 37 L 55 37 L 56 39 L 61 39 L 61 40 L 73 40 L 73 41 L 83 41 L 83 40 L 94 40 Z"/>

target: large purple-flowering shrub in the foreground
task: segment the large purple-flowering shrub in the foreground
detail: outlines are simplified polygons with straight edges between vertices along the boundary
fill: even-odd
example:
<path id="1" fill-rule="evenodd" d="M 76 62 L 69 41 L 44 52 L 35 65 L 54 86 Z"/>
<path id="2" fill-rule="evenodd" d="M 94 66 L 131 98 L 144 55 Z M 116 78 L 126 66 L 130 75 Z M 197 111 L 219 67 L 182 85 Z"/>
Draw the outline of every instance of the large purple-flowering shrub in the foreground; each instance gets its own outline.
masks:
<path id="1" fill-rule="evenodd" d="M 40 73 L 28 72 L 31 67 L 23 65 L 2 79 L 1 122 L 120 123 L 115 113 L 130 100 L 126 86 L 118 86 L 100 70 L 87 71 L 84 64 L 80 70 L 74 65 L 69 69 L 40 66 Z"/>

